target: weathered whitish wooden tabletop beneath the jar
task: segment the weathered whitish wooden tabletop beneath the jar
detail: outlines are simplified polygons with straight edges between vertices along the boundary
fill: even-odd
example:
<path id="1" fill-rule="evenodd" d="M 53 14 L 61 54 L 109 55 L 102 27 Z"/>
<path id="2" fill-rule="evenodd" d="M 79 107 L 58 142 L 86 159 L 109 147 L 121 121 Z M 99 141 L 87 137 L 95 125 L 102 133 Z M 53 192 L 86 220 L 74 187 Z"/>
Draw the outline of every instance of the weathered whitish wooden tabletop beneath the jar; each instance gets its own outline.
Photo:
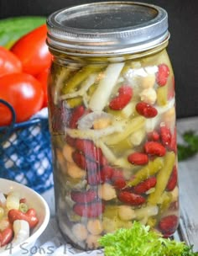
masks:
<path id="1" fill-rule="evenodd" d="M 198 116 L 177 120 L 178 142 L 184 131 L 198 131 Z M 198 154 L 179 163 L 180 184 L 180 226 L 175 232 L 175 239 L 194 245 L 198 251 Z M 51 219 L 47 230 L 39 238 L 39 244 L 53 239 L 58 228 L 55 221 L 53 189 L 44 193 L 44 199 L 50 205 Z"/>

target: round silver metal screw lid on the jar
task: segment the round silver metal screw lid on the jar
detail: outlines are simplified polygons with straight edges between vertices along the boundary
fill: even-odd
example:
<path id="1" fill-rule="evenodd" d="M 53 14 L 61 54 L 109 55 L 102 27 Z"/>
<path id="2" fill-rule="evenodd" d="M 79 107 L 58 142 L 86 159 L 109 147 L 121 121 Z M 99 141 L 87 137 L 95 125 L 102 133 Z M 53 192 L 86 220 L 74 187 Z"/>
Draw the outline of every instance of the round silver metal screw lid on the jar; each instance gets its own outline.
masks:
<path id="1" fill-rule="evenodd" d="M 52 13 L 48 45 L 84 56 L 117 56 L 146 51 L 169 39 L 168 14 L 146 3 L 87 3 Z"/>

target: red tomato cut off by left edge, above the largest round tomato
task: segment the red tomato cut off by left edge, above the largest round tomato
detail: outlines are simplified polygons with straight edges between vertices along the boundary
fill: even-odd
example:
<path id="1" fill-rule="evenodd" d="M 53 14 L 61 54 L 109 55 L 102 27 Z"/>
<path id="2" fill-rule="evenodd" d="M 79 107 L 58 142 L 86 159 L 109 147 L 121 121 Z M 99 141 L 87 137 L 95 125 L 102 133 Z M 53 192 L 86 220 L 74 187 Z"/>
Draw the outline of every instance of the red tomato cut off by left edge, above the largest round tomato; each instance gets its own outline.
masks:
<path id="1" fill-rule="evenodd" d="M 0 46 L 0 77 L 22 71 L 22 64 L 13 52 Z"/>

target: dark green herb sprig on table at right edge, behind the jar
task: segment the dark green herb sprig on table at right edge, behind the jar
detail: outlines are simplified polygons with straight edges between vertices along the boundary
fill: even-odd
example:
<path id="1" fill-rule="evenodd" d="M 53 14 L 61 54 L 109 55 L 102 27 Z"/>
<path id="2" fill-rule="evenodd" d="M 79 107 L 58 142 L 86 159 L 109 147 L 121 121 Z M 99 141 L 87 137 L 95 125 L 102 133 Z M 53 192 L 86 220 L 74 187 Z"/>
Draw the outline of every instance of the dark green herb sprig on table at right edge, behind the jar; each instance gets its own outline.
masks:
<path id="1" fill-rule="evenodd" d="M 179 161 L 184 161 L 189 157 L 193 157 L 198 152 L 198 135 L 195 134 L 195 131 L 186 131 L 182 135 L 182 138 L 185 141 L 185 144 L 177 145 Z"/>

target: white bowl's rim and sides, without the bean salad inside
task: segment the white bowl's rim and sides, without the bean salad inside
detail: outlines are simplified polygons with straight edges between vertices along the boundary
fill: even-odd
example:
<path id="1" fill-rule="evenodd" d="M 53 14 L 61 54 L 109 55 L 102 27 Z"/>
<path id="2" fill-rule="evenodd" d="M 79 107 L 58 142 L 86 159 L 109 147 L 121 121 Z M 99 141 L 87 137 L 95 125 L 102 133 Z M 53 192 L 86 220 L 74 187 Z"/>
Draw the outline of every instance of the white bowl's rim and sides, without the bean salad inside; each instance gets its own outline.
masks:
<path id="1" fill-rule="evenodd" d="M 27 204 L 30 208 L 34 208 L 37 212 L 39 218 L 39 223 L 36 227 L 30 232 L 28 239 L 23 241 L 23 243 L 14 246 L 13 248 L 7 247 L 1 251 L 0 256 L 10 256 L 10 255 L 29 255 L 31 248 L 34 246 L 34 243 L 38 237 L 44 232 L 44 229 L 47 227 L 50 221 L 50 209 L 45 200 L 41 195 L 35 192 L 33 189 L 29 189 L 23 184 L 18 184 L 17 182 L 0 179 L 0 191 L 3 194 L 8 194 L 11 191 L 18 191 L 21 198 L 27 200 Z"/>

